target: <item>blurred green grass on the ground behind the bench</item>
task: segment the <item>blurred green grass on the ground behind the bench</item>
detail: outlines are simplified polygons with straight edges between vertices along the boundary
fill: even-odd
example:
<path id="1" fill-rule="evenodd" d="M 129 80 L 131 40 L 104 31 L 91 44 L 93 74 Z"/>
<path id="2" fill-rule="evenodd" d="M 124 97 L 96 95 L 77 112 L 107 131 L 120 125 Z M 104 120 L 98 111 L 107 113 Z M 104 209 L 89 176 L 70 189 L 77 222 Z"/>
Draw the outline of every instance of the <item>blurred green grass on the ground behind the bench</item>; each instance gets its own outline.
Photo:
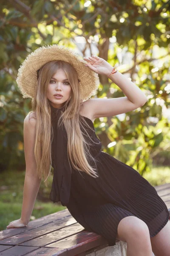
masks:
<path id="1" fill-rule="evenodd" d="M 6 226 L 13 220 L 20 218 L 23 201 L 23 184 L 25 172 L 1 173 L 0 180 L 0 230 L 5 230 Z M 170 168 L 165 166 L 153 167 L 151 172 L 143 175 L 152 186 L 170 183 Z M 66 209 L 60 203 L 54 204 L 49 199 L 51 190 L 52 175 L 49 177 L 49 185 L 45 187 L 42 182 L 37 195 L 37 200 L 30 218 L 40 218 L 42 216 Z"/>

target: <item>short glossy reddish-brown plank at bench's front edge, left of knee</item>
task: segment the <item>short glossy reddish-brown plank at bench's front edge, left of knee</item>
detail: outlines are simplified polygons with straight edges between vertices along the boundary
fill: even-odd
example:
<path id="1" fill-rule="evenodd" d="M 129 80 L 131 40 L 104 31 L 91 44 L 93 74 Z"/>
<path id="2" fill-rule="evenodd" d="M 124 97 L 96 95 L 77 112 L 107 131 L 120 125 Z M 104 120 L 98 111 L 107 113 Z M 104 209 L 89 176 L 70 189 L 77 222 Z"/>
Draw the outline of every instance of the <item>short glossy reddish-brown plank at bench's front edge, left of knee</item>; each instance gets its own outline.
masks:
<path id="1" fill-rule="evenodd" d="M 93 232 L 82 231 L 81 233 L 54 242 L 45 247 L 67 248 L 68 256 L 75 256 L 102 244 L 108 244 L 106 239 L 102 236 Z"/>

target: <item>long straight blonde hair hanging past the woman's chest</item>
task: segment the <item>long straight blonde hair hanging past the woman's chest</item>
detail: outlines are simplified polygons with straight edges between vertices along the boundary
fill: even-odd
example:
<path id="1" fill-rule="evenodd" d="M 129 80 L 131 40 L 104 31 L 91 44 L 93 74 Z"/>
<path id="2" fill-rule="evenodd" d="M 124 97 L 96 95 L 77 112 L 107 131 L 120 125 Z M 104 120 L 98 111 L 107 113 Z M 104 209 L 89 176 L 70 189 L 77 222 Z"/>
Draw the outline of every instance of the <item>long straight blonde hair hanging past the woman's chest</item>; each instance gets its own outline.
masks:
<path id="1" fill-rule="evenodd" d="M 32 111 L 28 113 L 28 115 L 32 112 L 35 113 L 34 156 L 37 163 L 37 175 L 40 178 L 44 177 L 45 186 L 48 186 L 46 180 L 51 172 L 51 143 L 54 137 L 54 131 L 51 126 L 51 106 L 46 93 L 51 77 L 60 68 L 64 70 L 72 88 L 71 97 L 65 102 L 65 111 L 62 112 L 59 118 L 59 125 L 63 123 L 67 132 L 69 164 L 71 162 L 70 166 L 72 165 L 79 172 L 86 172 L 92 177 L 98 177 L 95 172 L 96 169 L 89 164 L 89 160 L 92 160 L 96 166 L 98 160 L 90 154 L 91 143 L 85 139 L 88 137 L 91 140 L 86 128 L 92 128 L 79 114 L 83 100 L 81 99 L 77 72 L 72 65 L 65 61 L 50 61 L 42 66 L 37 73 L 36 95 L 31 102 Z M 93 142 L 93 140 L 91 141 Z"/>

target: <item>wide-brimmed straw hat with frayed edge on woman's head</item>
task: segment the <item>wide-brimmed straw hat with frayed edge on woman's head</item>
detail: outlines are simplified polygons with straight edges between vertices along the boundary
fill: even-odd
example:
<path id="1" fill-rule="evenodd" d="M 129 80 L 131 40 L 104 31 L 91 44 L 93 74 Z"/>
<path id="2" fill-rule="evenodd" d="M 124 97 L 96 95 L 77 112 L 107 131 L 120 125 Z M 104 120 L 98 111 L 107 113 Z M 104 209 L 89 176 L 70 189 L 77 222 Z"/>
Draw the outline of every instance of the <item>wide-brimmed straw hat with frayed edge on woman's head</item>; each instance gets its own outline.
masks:
<path id="1" fill-rule="evenodd" d="M 82 100 L 87 100 L 96 94 L 99 87 L 98 73 L 92 71 L 80 55 L 72 49 L 57 44 L 39 47 L 31 52 L 20 65 L 17 74 L 17 85 L 23 98 L 34 98 L 37 87 L 37 70 L 45 63 L 54 60 L 62 60 L 71 64 L 78 74 Z"/>

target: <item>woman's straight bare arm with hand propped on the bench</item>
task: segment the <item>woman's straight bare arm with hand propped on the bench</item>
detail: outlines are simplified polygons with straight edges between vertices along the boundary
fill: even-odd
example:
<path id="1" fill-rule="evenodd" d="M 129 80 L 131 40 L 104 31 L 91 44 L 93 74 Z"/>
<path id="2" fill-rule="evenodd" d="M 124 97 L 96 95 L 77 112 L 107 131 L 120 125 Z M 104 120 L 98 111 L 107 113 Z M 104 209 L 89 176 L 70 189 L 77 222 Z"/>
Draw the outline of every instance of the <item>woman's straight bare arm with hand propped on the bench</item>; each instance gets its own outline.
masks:
<path id="1" fill-rule="evenodd" d="M 41 184 L 41 179 L 37 176 L 37 165 L 34 157 L 36 119 L 34 118 L 34 113 L 31 113 L 30 115 L 30 119 L 28 115 L 24 119 L 24 154 L 26 160 L 26 175 L 23 188 L 21 218 L 16 221 L 11 221 L 7 226 L 8 228 L 23 227 L 24 225 L 28 224 Z"/>

